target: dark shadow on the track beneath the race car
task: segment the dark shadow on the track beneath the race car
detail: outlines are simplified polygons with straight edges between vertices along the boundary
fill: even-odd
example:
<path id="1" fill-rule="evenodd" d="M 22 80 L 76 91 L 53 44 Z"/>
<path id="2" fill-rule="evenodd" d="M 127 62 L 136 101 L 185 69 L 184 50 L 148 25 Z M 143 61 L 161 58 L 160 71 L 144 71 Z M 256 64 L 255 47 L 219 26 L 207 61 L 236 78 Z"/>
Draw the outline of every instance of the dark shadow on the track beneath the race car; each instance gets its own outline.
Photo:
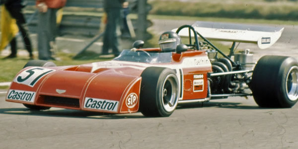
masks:
<path id="1" fill-rule="evenodd" d="M 179 104 L 176 110 L 192 108 L 231 108 L 231 109 L 264 109 L 253 105 L 241 105 L 238 102 L 205 102 L 205 103 L 184 103 Z M 51 108 L 50 110 L 30 110 L 27 108 L 2 108 L 0 114 L 12 115 L 33 115 L 33 116 L 49 116 L 49 117 L 68 117 L 68 118 L 86 118 L 86 119 L 140 119 L 155 118 L 145 117 L 140 112 L 133 114 L 110 114 L 103 112 L 89 112 L 61 108 Z"/>

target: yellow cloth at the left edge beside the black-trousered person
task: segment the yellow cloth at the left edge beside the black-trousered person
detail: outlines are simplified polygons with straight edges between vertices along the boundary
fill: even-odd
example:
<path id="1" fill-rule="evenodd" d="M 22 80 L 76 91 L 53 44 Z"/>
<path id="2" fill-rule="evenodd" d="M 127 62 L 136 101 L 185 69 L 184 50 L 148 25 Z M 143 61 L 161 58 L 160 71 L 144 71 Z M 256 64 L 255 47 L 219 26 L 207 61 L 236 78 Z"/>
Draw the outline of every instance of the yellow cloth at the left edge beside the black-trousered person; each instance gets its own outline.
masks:
<path id="1" fill-rule="evenodd" d="M 2 51 L 10 40 L 18 33 L 16 20 L 12 18 L 4 5 L 1 5 L 1 41 L 0 51 Z"/>

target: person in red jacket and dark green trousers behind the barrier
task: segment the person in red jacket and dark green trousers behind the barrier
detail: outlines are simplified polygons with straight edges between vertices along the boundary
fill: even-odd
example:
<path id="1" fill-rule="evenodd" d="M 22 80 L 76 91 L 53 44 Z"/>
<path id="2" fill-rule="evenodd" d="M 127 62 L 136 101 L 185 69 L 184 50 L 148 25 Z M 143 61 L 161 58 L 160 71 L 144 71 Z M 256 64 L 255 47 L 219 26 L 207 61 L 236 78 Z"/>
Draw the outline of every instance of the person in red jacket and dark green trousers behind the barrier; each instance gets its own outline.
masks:
<path id="1" fill-rule="evenodd" d="M 57 34 L 57 16 L 59 8 L 65 6 L 67 0 L 36 0 L 38 13 L 38 58 L 55 60 L 51 49 L 55 49 Z"/>

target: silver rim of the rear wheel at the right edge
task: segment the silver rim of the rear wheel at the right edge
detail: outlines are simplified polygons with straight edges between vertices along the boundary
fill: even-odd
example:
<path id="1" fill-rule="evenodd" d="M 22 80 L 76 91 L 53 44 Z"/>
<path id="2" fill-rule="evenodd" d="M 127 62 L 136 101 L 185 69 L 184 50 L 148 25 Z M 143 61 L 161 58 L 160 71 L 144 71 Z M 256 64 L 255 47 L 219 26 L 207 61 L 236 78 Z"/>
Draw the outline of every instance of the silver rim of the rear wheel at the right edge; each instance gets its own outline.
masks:
<path id="1" fill-rule="evenodd" d="M 287 96 L 291 101 L 298 99 L 298 67 L 292 67 L 286 78 Z"/>

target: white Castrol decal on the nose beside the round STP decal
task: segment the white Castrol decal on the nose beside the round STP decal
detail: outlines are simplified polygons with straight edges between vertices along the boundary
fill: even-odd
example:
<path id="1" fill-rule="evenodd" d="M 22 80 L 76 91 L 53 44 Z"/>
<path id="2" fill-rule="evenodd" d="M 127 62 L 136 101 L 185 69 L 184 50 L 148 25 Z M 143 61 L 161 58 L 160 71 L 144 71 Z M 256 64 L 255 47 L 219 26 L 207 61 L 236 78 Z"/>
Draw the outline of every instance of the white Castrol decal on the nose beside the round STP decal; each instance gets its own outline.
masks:
<path id="1" fill-rule="evenodd" d="M 84 108 L 117 112 L 118 101 L 86 97 Z"/>

